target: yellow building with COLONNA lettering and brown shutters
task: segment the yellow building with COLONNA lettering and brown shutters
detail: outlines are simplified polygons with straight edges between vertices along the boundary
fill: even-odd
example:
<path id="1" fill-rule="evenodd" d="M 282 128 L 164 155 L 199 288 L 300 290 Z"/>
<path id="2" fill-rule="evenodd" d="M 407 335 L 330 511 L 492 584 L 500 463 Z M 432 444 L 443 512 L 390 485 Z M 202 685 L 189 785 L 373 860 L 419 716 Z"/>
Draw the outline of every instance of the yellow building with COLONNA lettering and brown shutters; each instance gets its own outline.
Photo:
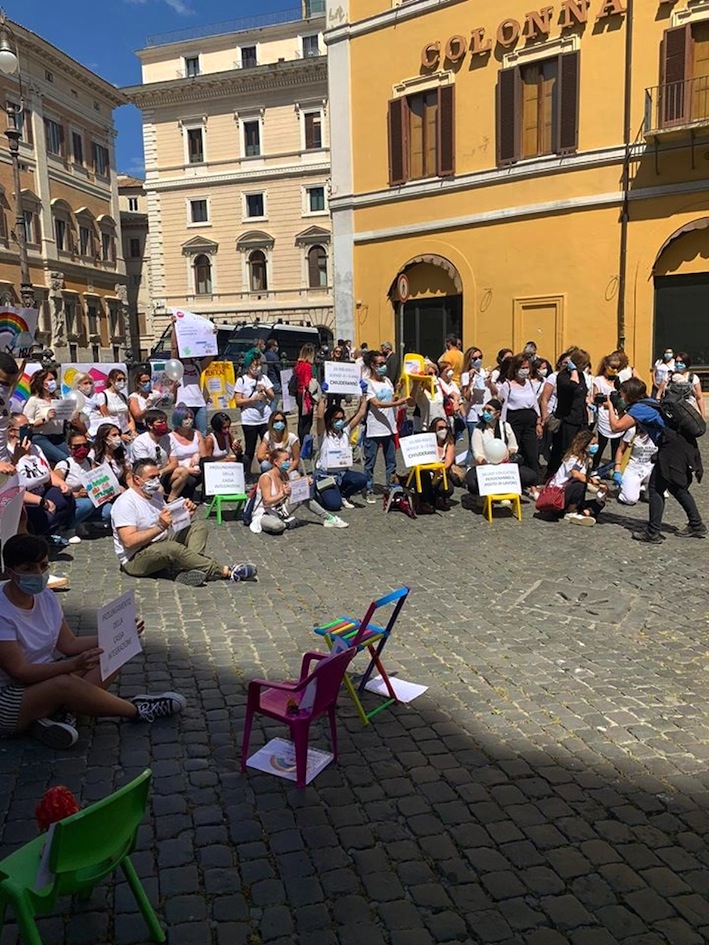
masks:
<path id="1" fill-rule="evenodd" d="M 325 40 L 337 335 L 709 368 L 709 0 L 330 0 Z"/>

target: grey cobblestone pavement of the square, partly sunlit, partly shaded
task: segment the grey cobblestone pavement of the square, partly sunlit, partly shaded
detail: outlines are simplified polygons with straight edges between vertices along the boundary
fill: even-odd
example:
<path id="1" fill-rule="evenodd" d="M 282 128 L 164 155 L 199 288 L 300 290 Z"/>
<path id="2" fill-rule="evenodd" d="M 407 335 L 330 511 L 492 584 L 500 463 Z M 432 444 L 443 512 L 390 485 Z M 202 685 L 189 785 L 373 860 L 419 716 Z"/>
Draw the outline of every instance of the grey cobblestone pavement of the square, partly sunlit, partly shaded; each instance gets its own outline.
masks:
<path id="1" fill-rule="evenodd" d="M 80 632 L 137 591 L 145 654 L 121 693 L 174 688 L 188 707 L 85 723 L 64 753 L 0 743 L 3 852 L 35 835 L 50 785 L 86 804 L 150 766 L 135 864 L 171 945 L 709 940 L 709 541 L 673 536 L 672 501 L 656 547 L 630 540 L 644 505 L 587 530 L 530 505 L 489 525 L 460 499 L 416 521 L 362 505 L 348 531 L 214 527 L 218 557 L 258 564 L 253 585 L 133 581 L 109 540 L 72 549 L 53 570 Z M 339 764 L 306 790 L 242 776 L 248 680 L 293 677 L 315 623 L 404 583 L 388 666 L 425 695 L 367 728 L 343 697 Z M 252 748 L 281 734 L 257 723 Z M 119 881 L 41 930 L 45 945 L 147 941 Z M 10 924 L 0 942 L 15 941 Z"/>

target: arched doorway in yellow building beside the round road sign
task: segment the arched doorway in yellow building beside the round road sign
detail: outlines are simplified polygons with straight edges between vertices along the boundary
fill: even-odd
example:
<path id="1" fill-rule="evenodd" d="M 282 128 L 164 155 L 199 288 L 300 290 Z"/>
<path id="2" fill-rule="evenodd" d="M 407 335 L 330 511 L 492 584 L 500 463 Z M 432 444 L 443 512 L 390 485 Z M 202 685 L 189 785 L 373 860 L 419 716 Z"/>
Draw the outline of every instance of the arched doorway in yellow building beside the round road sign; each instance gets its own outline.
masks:
<path id="1" fill-rule="evenodd" d="M 399 277 L 405 275 L 409 294 L 402 301 Z M 444 256 L 416 256 L 397 272 L 389 289 L 396 314 L 396 346 L 436 361 L 445 350 L 446 335 L 463 335 L 463 281 Z"/>

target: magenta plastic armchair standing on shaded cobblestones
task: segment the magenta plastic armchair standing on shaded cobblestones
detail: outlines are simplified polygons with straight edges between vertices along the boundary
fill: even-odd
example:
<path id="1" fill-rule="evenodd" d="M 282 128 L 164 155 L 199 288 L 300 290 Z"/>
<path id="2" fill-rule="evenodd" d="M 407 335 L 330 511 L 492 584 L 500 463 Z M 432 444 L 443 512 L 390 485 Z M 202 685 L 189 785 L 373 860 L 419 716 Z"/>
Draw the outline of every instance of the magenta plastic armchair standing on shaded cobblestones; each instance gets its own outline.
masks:
<path id="1" fill-rule="evenodd" d="M 305 787 L 310 726 L 315 719 L 326 713 L 330 719 L 332 753 L 337 760 L 337 723 L 335 720 L 337 696 L 342 685 L 342 677 L 355 653 L 356 650 L 349 649 L 334 654 L 306 653 L 300 667 L 300 678 L 293 682 L 273 683 L 267 679 L 251 680 L 246 702 L 244 737 L 241 744 L 242 771 L 246 771 L 251 726 L 256 713 L 285 722 L 289 726 L 291 738 L 295 743 L 297 787 Z M 310 664 L 313 661 L 317 661 L 317 666 L 311 673 Z M 314 696 L 311 686 L 315 688 Z M 306 708 L 300 708 L 302 702 L 306 702 Z"/>

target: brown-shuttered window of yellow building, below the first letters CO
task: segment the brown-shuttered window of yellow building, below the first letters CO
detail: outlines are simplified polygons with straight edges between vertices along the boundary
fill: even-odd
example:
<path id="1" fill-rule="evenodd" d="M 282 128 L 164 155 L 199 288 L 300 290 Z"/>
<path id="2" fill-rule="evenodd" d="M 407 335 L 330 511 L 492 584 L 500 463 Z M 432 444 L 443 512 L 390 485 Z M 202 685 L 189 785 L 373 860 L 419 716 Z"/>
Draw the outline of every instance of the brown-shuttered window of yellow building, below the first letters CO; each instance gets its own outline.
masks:
<path id="1" fill-rule="evenodd" d="M 389 183 L 455 173 L 452 85 L 389 102 Z"/>

